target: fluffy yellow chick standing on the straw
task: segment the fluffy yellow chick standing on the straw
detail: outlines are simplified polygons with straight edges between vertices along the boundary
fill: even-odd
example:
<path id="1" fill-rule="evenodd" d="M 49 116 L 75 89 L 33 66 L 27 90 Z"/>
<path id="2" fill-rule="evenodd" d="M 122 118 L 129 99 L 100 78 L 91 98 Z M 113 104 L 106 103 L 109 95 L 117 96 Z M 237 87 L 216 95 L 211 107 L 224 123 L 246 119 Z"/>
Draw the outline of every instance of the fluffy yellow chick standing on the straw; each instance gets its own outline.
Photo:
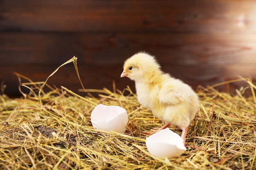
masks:
<path id="1" fill-rule="evenodd" d="M 164 73 L 155 57 L 146 52 L 128 58 L 121 77 L 134 80 L 139 103 L 166 122 L 159 130 L 171 124 L 182 129 L 181 137 L 185 145 L 190 121 L 200 106 L 192 88 Z"/>

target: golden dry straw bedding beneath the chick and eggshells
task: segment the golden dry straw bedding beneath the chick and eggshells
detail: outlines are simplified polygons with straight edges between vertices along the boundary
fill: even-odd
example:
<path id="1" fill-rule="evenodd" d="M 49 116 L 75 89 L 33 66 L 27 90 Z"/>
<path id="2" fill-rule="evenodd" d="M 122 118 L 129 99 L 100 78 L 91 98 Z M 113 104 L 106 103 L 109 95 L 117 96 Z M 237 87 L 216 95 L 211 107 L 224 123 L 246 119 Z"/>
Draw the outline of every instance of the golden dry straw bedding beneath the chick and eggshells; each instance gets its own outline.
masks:
<path id="1" fill-rule="evenodd" d="M 0 95 L 0 167 L 4 170 L 256 167 L 256 87 L 250 79 L 234 80 L 248 83 L 235 95 L 219 93 L 213 86 L 198 87 L 201 107 L 189 127 L 187 151 L 178 158 L 156 158 L 146 149 L 147 135 L 141 132 L 157 129 L 164 122 L 142 107 L 129 87 L 124 91 L 87 90 L 88 95 L 81 97 L 65 87 L 52 88 L 46 81 L 39 85 L 23 78 L 29 81 L 22 84 L 31 90 L 29 94 L 18 99 Z M 42 90 L 45 85 L 51 89 L 48 93 Z M 93 97 L 92 91 L 100 95 Z M 243 97 L 245 91 L 252 95 Z M 121 134 L 94 130 L 90 114 L 97 104 L 125 108 L 127 130 Z M 180 129 L 170 128 L 181 134 Z"/>

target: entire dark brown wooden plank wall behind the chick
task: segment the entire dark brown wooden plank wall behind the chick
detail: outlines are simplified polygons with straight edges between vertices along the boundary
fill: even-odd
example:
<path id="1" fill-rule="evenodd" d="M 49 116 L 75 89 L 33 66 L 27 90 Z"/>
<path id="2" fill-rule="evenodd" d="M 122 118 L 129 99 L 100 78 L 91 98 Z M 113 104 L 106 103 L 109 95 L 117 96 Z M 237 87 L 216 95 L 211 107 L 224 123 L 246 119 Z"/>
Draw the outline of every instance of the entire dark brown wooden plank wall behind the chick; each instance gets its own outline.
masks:
<path id="1" fill-rule="evenodd" d="M 165 72 L 193 88 L 238 75 L 255 80 L 256 1 L 0 0 L 0 82 L 7 95 L 20 95 L 13 71 L 45 81 L 74 55 L 85 88 L 112 89 L 115 80 L 120 90 L 134 89 L 120 74 L 138 51 L 155 55 Z M 49 84 L 81 88 L 72 64 Z"/>

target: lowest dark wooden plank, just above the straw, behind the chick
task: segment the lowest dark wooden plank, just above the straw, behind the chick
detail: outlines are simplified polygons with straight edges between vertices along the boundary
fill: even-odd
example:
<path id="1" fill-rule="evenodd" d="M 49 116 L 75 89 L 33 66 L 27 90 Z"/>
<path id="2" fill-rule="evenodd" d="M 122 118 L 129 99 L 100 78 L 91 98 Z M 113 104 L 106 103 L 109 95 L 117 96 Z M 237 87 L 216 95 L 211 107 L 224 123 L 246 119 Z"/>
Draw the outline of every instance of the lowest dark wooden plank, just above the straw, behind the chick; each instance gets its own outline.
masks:
<path id="1" fill-rule="evenodd" d="M 12 73 L 16 71 L 34 82 L 45 81 L 47 77 L 57 68 L 57 66 L 42 65 L 22 65 L 22 66 L 1 66 L 0 82 L 4 81 L 7 85 L 5 93 L 9 96 L 20 95 L 18 91 L 18 78 Z M 201 66 L 182 66 L 163 64 L 162 69 L 171 73 L 173 77 L 182 79 L 185 83 L 191 85 L 194 89 L 198 85 L 207 86 L 231 79 L 237 79 L 238 74 L 243 77 L 252 76 L 254 82 L 256 79 L 255 64 L 239 64 L 235 66 L 219 65 L 201 65 Z M 85 88 L 102 89 L 106 87 L 112 90 L 112 81 L 115 80 L 118 89 L 123 90 L 129 85 L 135 91 L 134 82 L 127 77 L 120 78 L 122 72 L 121 66 L 83 66 L 79 65 L 79 73 Z M 22 82 L 27 82 L 22 79 Z M 81 88 L 79 80 L 74 70 L 74 66 L 66 65 L 49 78 L 48 84 L 60 88 L 66 88 L 78 93 Z M 244 82 L 233 83 L 229 86 L 229 91 L 235 93 L 236 88 L 247 86 Z M 25 92 L 25 88 L 22 88 Z M 217 87 L 220 91 L 227 91 L 227 86 Z M 28 91 L 27 91 L 28 92 Z M 85 95 L 84 93 L 78 93 Z"/>

